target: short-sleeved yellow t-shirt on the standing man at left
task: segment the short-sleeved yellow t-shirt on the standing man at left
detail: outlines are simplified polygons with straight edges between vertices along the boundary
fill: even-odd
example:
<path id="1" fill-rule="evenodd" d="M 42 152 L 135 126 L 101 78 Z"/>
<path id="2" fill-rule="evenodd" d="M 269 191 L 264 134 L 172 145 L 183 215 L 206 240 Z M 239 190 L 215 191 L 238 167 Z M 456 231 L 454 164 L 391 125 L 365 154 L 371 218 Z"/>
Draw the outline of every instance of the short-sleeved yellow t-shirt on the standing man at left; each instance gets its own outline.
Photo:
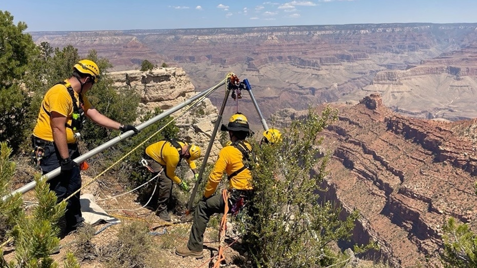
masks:
<path id="1" fill-rule="evenodd" d="M 45 140 L 53 141 L 53 132 L 51 127 L 51 119 L 48 113 L 57 112 L 68 118 L 67 124 L 71 125 L 72 114 L 73 114 L 73 100 L 71 95 L 68 92 L 67 87 L 71 84 L 68 80 L 65 80 L 66 85 L 56 84 L 50 88 L 41 102 L 40 113 L 38 113 L 38 119 L 36 121 L 35 128 L 33 129 L 33 135 Z M 74 92 L 74 97 L 76 98 L 76 105 L 80 107 L 79 95 Z M 88 101 L 86 96 L 83 94 L 83 110 L 86 113 L 88 109 L 92 107 L 91 103 Z M 45 112 L 45 110 L 48 113 Z M 69 127 L 66 127 L 66 142 L 69 144 L 75 143 L 76 139 L 73 137 L 73 130 Z"/>

